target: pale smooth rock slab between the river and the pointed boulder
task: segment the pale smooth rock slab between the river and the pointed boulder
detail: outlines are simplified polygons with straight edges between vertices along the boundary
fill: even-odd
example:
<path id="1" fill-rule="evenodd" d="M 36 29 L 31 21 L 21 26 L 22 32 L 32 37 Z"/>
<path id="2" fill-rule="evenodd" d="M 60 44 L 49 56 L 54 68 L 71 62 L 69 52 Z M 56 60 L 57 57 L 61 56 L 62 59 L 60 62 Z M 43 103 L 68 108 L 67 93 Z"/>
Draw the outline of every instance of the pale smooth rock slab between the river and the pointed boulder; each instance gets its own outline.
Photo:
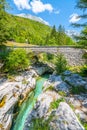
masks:
<path id="1" fill-rule="evenodd" d="M 34 107 L 34 110 L 28 115 L 26 119 L 24 130 L 26 130 L 27 126 L 32 123 L 32 119 L 42 117 L 46 118 L 47 114 L 49 113 L 48 111 L 50 108 L 50 103 L 60 98 L 60 95 L 52 91 L 46 91 L 40 94 L 37 99 L 37 103 Z"/>

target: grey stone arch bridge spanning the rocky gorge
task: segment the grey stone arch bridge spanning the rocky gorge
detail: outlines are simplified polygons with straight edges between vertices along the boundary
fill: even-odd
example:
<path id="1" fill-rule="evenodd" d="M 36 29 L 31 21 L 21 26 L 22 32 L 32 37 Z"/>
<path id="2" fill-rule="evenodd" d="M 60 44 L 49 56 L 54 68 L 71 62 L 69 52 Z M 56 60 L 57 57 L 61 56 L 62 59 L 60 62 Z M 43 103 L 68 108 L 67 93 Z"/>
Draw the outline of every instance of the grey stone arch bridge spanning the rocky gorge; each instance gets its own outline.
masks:
<path id="1" fill-rule="evenodd" d="M 57 53 L 62 53 L 66 57 L 68 63 L 72 66 L 80 66 L 85 62 L 82 57 L 86 50 L 74 46 L 24 46 L 14 48 L 24 48 L 27 52 L 32 50 L 35 53 L 45 52 L 55 55 Z"/>

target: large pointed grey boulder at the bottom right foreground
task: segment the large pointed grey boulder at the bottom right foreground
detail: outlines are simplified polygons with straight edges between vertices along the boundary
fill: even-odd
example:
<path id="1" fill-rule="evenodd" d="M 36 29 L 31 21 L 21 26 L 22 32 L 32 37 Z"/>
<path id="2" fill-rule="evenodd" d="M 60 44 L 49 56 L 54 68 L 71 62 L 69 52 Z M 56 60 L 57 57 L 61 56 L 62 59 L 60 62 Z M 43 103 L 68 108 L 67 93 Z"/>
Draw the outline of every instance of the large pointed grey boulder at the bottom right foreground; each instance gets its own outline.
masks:
<path id="1" fill-rule="evenodd" d="M 51 130 L 85 130 L 75 113 L 65 102 L 59 104 L 55 116 L 50 122 Z"/>

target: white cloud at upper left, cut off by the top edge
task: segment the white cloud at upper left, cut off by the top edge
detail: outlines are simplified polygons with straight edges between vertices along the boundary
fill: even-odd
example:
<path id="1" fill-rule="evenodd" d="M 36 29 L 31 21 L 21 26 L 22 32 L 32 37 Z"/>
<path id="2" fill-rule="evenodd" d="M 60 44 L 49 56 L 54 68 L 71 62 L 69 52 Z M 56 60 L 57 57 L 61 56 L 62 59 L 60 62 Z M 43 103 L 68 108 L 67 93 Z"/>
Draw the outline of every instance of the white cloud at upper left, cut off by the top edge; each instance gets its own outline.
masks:
<path id="1" fill-rule="evenodd" d="M 18 7 L 19 10 L 31 9 L 31 7 L 29 5 L 29 0 L 14 0 L 14 4 Z"/>

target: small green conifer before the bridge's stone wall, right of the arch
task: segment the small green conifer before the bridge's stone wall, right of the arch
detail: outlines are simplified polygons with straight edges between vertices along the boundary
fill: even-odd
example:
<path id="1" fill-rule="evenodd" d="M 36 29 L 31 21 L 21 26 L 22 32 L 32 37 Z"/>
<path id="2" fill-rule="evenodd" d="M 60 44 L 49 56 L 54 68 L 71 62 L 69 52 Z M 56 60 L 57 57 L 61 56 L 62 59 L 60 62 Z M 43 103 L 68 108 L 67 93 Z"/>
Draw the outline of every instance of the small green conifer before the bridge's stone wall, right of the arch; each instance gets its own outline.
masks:
<path id="1" fill-rule="evenodd" d="M 58 74 L 61 74 L 67 69 L 67 61 L 63 54 L 58 54 L 55 63 L 55 69 Z"/>

